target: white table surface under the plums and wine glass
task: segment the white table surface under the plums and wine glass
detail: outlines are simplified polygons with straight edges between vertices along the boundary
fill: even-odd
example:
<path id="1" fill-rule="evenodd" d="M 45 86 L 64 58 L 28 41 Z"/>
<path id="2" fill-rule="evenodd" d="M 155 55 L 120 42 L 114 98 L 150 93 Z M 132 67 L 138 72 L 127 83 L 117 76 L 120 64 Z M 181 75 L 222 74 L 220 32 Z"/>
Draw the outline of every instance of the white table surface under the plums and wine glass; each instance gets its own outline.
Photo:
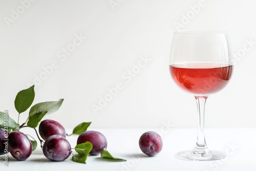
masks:
<path id="1" fill-rule="evenodd" d="M 38 147 L 26 161 L 17 161 L 9 154 L 8 167 L 4 166 L 4 156 L 1 155 L 0 170 L 256 170 L 256 128 L 206 128 L 205 136 L 209 149 L 228 152 L 225 159 L 218 161 L 183 161 L 175 158 L 177 152 L 194 147 L 197 136 L 195 128 L 172 128 L 162 132 L 156 129 L 93 130 L 105 135 L 108 140 L 107 149 L 114 157 L 127 161 L 113 162 L 98 155 L 88 156 L 87 164 L 73 162 L 71 157 L 65 161 L 53 162 L 49 161 Z M 24 128 L 22 131 L 35 137 L 34 132 L 31 132 L 33 130 Z M 157 156 L 148 157 L 140 151 L 138 141 L 146 131 L 161 132 L 163 148 Z M 67 131 L 70 132 L 71 130 Z M 72 147 L 75 147 L 77 137 L 67 137 Z"/>

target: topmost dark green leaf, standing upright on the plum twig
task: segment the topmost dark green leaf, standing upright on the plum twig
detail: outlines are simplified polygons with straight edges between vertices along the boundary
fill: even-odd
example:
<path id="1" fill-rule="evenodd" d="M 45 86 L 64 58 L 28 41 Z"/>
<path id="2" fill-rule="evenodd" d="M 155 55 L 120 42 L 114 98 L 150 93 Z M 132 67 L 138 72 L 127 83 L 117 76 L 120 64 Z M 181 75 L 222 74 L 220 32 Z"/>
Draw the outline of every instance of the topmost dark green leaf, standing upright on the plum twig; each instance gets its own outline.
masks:
<path id="1" fill-rule="evenodd" d="M 29 109 L 30 105 L 33 103 L 35 98 L 34 85 L 28 89 L 18 92 L 14 100 L 15 109 L 17 112 L 23 113 Z"/>

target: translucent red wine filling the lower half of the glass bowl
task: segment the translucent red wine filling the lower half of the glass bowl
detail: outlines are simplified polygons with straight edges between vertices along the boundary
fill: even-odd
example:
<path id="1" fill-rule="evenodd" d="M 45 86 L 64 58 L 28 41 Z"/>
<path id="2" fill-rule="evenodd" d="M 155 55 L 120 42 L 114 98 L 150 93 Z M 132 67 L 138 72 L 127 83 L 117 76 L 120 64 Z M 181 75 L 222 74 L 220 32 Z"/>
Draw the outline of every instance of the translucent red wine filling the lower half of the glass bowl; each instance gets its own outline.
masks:
<path id="1" fill-rule="evenodd" d="M 232 74 L 232 65 L 222 63 L 179 63 L 169 70 L 175 83 L 185 92 L 209 95 L 222 90 Z"/>

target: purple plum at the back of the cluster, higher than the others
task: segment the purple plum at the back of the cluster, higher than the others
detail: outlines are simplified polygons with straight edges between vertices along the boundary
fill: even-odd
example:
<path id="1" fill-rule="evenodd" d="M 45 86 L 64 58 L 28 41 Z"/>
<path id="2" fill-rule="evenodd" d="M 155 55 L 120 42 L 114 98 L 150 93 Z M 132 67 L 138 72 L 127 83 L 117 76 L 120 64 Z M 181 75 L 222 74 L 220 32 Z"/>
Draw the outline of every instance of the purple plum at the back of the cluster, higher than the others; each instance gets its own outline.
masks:
<path id="1" fill-rule="evenodd" d="M 61 135 L 66 138 L 65 128 L 57 121 L 46 119 L 41 121 L 38 128 L 39 134 L 42 139 L 46 140 L 52 135 Z"/>

